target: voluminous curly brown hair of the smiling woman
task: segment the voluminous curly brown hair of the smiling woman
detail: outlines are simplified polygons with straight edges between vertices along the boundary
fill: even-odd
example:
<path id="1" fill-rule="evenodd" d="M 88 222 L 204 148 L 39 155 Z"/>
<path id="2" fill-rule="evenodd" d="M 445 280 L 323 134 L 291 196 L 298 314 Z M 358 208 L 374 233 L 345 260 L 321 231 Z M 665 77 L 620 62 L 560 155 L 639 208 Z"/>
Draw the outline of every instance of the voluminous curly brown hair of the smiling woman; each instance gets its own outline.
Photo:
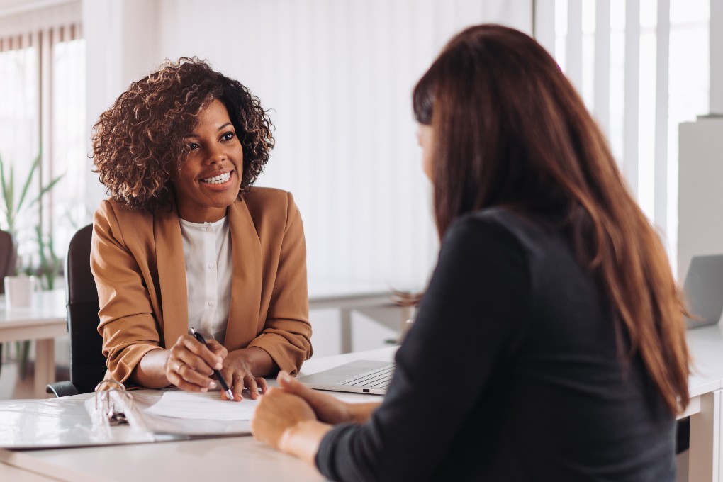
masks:
<path id="1" fill-rule="evenodd" d="M 249 191 L 273 149 L 273 124 L 241 82 L 197 57 L 182 57 L 133 82 L 93 126 L 94 171 L 108 194 L 131 209 L 170 205 L 171 180 L 189 153 L 184 137 L 215 99 L 226 106 L 244 151 L 239 197 Z"/>

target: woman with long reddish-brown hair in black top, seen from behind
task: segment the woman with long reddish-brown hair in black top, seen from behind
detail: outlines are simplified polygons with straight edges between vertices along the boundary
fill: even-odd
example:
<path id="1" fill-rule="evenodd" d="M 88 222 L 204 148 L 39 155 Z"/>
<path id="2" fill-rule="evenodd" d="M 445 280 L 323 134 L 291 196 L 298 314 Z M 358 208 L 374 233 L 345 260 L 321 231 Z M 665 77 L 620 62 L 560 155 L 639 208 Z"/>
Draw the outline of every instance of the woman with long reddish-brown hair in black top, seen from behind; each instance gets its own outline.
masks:
<path id="1" fill-rule="evenodd" d="M 414 113 L 442 245 L 387 395 L 343 403 L 282 372 L 254 436 L 341 481 L 672 481 L 683 302 L 555 60 L 470 27 Z"/>

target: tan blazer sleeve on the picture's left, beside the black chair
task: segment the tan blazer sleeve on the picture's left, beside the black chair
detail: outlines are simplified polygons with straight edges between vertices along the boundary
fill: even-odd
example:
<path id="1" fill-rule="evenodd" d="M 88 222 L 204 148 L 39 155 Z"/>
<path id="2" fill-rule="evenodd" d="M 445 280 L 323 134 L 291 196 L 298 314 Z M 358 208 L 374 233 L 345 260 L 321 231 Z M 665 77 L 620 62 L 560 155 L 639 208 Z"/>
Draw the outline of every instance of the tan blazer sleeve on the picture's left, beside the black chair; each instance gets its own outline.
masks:
<path id="1" fill-rule="evenodd" d="M 138 218 L 138 230 L 152 230 L 151 220 L 140 213 Z M 103 355 L 108 358 L 111 376 L 125 382 L 146 353 L 161 348 L 161 330 L 149 291 L 153 284 L 148 286 L 146 281 L 152 278 L 149 267 L 140 264 L 127 246 L 114 207 L 108 201 L 101 203 L 93 218 L 90 267 L 98 287 L 98 332 L 103 335 Z"/>

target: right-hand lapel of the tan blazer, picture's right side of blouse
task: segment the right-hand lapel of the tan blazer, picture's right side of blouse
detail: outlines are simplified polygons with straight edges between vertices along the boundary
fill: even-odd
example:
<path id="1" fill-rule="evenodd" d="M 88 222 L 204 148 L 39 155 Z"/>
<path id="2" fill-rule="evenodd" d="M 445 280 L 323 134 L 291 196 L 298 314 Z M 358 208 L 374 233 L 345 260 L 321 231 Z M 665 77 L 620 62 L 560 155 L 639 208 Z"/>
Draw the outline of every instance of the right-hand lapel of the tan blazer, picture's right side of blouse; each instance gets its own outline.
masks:
<path id="1" fill-rule="evenodd" d="M 231 277 L 231 308 L 224 345 L 229 350 L 246 348 L 257 336 L 261 309 L 262 252 L 254 220 L 243 201 L 228 207 L 234 274 Z"/>

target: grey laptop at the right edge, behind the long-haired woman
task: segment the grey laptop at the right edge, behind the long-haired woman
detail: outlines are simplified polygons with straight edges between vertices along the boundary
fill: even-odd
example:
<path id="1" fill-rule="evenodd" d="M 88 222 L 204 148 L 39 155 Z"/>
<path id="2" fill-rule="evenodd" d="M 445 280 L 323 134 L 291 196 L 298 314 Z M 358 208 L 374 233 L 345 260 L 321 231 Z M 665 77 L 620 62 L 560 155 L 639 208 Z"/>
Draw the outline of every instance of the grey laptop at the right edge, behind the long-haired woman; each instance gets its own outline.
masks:
<path id="1" fill-rule="evenodd" d="M 688 328 L 716 324 L 723 314 L 723 254 L 694 256 L 683 284 L 688 311 Z"/>

